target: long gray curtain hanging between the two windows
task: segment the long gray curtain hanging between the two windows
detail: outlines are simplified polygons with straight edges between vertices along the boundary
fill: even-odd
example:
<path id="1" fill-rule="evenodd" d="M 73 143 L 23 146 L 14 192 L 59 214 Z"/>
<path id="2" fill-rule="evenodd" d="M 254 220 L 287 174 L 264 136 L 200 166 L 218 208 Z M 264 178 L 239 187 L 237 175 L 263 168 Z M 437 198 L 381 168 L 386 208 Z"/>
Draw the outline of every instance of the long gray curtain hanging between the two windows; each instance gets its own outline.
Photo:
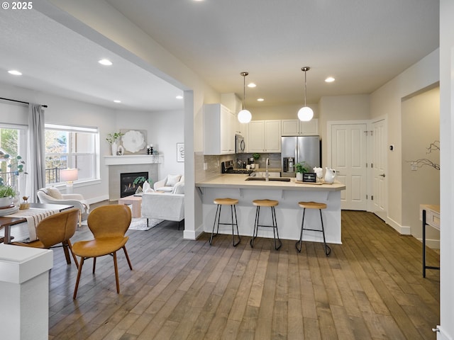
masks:
<path id="1" fill-rule="evenodd" d="M 28 106 L 28 181 L 29 202 L 38 202 L 36 193 L 45 187 L 44 111 L 39 104 Z"/>

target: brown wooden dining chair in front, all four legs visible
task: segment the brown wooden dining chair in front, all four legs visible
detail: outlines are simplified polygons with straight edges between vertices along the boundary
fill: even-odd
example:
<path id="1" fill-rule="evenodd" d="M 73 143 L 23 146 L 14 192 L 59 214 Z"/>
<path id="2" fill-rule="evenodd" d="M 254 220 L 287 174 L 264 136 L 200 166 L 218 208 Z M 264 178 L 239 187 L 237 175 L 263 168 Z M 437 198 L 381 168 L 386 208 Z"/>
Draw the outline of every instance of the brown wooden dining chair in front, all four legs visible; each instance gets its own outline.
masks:
<path id="1" fill-rule="evenodd" d="M 114 269 L 116 280 L 116 293 L 120 293 L 120 284 L 118 283 L 118 266 L 116 261 L 116 251 L 123 248 L 128 261 L 129 268 L 133 270 L 131 261 L 129 261 L 128 251 L 126 251 L 126 242 L 128 237 L 125 236 L 129 225 L 131 224 L 131 209 L 128 205 L 102 205 L 90 212 L 87 219 L 88 227 L 92 231 L 94 239 L 89 241 L 79 241 L 74 243 L 72 251 L 80 256 L 79 271 L 77 271 L 76 285 L 74 288 L 73 298 L 77 296 L 79 288 L 80 274 L 84 261 L 93 258 L 93 273 L 96 269 L 96 257 L 112 255 L 114 257 Z"/>

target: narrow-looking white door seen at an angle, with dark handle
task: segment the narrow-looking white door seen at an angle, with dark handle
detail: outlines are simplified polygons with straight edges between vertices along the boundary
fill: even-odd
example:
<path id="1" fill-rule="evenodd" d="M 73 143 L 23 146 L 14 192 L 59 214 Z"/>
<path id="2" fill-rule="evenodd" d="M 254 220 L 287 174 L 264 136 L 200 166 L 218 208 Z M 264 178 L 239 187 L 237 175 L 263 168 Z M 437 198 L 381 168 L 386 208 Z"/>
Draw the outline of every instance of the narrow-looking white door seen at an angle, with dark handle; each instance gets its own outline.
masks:
<path id="1" fill-rule="evenodd" d="M 387 217 L 387 128 L 386 120 L 372 123 L 372 212 Z"/>

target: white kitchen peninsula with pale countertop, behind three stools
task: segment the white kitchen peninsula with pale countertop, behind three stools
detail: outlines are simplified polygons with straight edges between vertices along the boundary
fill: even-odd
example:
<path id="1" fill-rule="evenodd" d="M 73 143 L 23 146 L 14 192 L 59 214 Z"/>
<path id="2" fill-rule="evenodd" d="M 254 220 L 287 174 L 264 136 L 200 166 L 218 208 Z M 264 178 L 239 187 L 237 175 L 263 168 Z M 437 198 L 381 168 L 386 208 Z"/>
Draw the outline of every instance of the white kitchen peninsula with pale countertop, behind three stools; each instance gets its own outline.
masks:
<path id="1" fill-rule="evenodd" d="M 222 174 L 212 179 L 206 179 L 196 183 L 201 193 L 204 232 L 211 233 L 213 228 L 216 205 L 215 198 L 237 198 L 236 213 L 238 215 L 238 229 L 240 235 L 252 236 L 255 207 L 253 200 L 270 199 L 278 200 L 276 207 L 277 225 L 281 239 L 299 239 L 303 210 L 299 208 L 300 201 L 314 201 L 326 203 L 323 210 L 323 224 L 325 227 L 326 242 L 341 244 L 341 191 L 345 190 L 342 183 L 319 184 L 299 183 L 295 179 L 279 181 L 246 180 L 248 176 L 238 174 Z M 285 179 L 284 179 L 285 180 Z M 230 209 L 222 210 L 221 219 L 230 221 Z M 270 212 L 267 209 L 260 210 L 260 222 L 271 222 Z M 222 220 L 221 220 L 222 222 Z M 304 224 L 311 225 L 314 229 L 320 227 L 319 211 L 306 211 Z M 231 234 L 231 227 L 221 225 L 219 233 Z M 272 238 L 271 228 L 260 228 L 259 237 Z M 304 241 L 323 242 L 320 232 L 305 231 Z"/>

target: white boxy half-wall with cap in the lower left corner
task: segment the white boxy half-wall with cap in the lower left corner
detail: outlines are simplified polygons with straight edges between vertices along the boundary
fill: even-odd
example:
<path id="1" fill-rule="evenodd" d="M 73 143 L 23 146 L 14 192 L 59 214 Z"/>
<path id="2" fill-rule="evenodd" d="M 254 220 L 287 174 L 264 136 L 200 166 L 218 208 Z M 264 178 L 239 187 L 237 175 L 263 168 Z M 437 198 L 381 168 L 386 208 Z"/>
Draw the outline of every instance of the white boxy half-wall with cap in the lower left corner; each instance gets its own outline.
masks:
<path id="1" fill-rule="evenodd" d="M 48 340 L 52 251 L 0 244 L 0 339 Z"/>

